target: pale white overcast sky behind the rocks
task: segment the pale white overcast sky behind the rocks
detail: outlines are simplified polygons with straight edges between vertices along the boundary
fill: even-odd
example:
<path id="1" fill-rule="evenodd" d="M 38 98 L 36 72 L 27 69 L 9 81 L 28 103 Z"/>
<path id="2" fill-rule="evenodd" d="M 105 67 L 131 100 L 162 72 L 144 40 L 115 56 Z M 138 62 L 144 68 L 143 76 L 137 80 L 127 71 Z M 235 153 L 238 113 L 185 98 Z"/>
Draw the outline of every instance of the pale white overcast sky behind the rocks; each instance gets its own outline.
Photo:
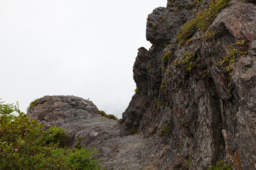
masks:
<path id="1" fill-rule="evenodd" d="M 132 67 L 146 18 L 167 0 L 0 0 L 0 98 L 90 98 L 122 118 L 134 95 Z"/>

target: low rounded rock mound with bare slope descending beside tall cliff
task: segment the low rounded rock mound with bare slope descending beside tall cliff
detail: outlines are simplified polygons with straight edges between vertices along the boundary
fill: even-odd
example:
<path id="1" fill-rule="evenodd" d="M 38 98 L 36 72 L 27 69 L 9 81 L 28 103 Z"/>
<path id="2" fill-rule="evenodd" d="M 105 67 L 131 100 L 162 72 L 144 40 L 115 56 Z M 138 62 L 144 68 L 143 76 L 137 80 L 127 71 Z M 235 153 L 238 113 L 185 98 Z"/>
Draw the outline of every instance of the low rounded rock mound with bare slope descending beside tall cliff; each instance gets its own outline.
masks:
<path id="1" fill-rule="evenodd" d="M 154 142 L 121 130 L 117 120 L 103 118 L 92 101 L 75 96 L 44 96 L 28 108 L 30 120 L 46 128 L 56 125 L 71 136 L 70 147 L 81 137 L 81 147 L 95 147 L 104 169 L 144 169 Z"/>

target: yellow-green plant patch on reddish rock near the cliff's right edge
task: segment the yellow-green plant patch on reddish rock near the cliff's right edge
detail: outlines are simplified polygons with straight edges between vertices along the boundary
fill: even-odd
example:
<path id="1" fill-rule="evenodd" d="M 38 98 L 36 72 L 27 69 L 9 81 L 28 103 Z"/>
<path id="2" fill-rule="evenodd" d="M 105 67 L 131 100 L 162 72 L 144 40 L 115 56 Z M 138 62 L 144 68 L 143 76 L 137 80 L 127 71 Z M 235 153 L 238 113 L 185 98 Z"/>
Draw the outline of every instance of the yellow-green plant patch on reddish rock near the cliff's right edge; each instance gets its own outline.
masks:
<path id="1" fill-rule="evenodd" d="M 240 40 L 238 42 L 235 42 L 235 44 L 229 45 L 228 48 L 230 48 L 230 51 L 228 52 L 228 55 L 224 57 L 224 60 L 222 62 L 218 62 L 218 66 L 224 67 L 227 72 L 230 73 L 233 70 L 232 64 L 235 62 L 235 59 L 240 57 L 241 55 L 246 55 L 247 52 L 242 51 L 239 49 L 239 47 L 233 47 L 235 46 L 242 46 L 245 44 L 245 40 Z"/>

